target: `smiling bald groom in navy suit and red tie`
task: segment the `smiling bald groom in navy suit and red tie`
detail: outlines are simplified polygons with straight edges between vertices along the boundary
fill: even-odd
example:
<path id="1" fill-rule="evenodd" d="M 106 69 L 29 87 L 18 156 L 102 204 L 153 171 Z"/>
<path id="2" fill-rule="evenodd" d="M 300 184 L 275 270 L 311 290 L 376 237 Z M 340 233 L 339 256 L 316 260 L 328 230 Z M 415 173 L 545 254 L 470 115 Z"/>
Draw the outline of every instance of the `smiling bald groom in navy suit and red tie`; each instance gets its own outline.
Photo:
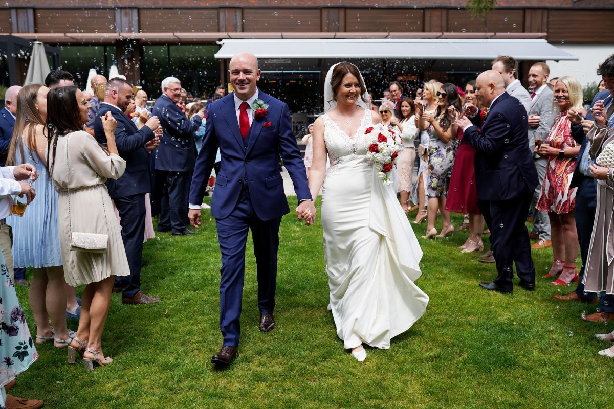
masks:
<path id="1" fill-rule="evenodd" d="M 281 217 L 290 211 L 284 180 L 279 173 L 281 154 L 298 196 L 297 213 L 316 214 L 307 186 L 306 169 L 292 133 L 288 105 L 258 90 L 258 60 L 240 53 L 230 60 L 230 83 L 235 91 L 212 104 L 196 159 L 190 188 L 188 216 L 201 223 L 201 203 L 219 148 L 222 156 L 211 215 L 216 218 L 222 253 L 220 269 L 220 330 L 222 349 L 211 358 L 228 365 L 238 356 L 239 318 L 245 270 L 247 232 L 252 231 L 257 263 L 260 331 L 275 326 L 273 308 L 277 278 L 277 251 Z M 308 218 L 309 220 L 309 218 Z"/>

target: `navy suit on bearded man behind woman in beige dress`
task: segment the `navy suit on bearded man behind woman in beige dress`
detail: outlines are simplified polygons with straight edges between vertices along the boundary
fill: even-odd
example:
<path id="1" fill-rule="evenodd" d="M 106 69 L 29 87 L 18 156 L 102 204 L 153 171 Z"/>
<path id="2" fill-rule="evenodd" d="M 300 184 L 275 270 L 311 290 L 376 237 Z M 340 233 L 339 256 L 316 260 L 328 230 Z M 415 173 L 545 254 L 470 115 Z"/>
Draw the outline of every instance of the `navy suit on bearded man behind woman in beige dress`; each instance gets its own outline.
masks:
<path id="1" fill-rule="evenodd" d="M 106 143 L 101 116 L 111 112 L 117 128 L 115 143 L 119 156 L 126 161 L 126 171 L 117 180 L 106 182 L 122 224 L 123 246 L 126 249 L 130 275 L 116 277 L 115 286 L 122 288 L 122 297 L 134 297 L 141 290 L 141 261 L 145 236 L 145 194 L 151 190 L 149 152 L 145 144 L 153 139 L 149 126 L 141 130 L 118 107 L 101 104 L 94 118 L 94 134 L 99 143 Z"/>

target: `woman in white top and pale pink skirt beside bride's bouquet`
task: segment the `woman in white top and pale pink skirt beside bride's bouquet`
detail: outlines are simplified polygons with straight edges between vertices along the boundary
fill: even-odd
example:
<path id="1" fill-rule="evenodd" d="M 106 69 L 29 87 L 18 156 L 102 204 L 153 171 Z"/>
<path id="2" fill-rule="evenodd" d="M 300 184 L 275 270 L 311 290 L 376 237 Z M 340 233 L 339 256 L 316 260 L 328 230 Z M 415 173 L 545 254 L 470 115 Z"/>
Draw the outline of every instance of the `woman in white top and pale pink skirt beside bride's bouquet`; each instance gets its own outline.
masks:
<path id="1" fill-rule="evenodd" d="M 397 157 L 398 190 L 400 192 L 403 212 L 410 212 L 410 192 L 413 190 L 414 163 L 416 162 L 416 147 L 414 140 L 418 136 L 416 126 L 416 105 L 409 98 L 401 101 L 401 120 L 395 122 L 403 139 L 403 150 Z"/>

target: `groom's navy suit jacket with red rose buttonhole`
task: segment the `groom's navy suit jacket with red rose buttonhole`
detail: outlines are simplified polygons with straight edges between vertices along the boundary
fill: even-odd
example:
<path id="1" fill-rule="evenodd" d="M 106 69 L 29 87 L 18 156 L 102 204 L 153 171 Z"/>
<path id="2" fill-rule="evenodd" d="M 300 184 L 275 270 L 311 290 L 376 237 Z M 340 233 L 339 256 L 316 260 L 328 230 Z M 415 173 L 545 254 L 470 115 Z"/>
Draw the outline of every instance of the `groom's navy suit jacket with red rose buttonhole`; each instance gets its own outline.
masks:
<path id="1" fill-rule="evenodd" d="M 279 155 L 284 160 L 298 201 L 312 199 L 307 186 L 305 164 L 292 132 L 286 103 L 258 90 L 258 99 L 268 104 L 266 116 L 254 116 L 246 139 L 241 137 L 233 93 L 211 104 L 190 187 L 190 204 L 200 204 L 217 149 L 221 166 L 211 215 L 223 219 L 236 206 L 242 189 L 249 190 L 254 212 L 260 220 L 273 220 L 290 212 L 284 180 L 279 172 Z"/>

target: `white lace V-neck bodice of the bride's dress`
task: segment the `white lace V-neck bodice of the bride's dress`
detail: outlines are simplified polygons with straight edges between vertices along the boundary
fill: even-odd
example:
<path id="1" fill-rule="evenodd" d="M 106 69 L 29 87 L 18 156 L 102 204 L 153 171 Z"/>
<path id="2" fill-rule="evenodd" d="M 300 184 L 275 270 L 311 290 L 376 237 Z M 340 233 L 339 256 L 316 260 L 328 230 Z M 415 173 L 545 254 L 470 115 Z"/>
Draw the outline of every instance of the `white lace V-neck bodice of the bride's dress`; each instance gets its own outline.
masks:
<path id="1" fill-rule="evenodd" d="M 331 167 L 349 159 L 364 158 L 371 145 L 370 140 L 365 136 L 365 129 L 373 124 L 371 111 L 365 110 L 360 126 L 352 137 L 341 131 L 341 128 L 328 117 L 327 113 L 322 115 L 322 118 L 324 118 L 324 143 L 326 143 Z"/>

